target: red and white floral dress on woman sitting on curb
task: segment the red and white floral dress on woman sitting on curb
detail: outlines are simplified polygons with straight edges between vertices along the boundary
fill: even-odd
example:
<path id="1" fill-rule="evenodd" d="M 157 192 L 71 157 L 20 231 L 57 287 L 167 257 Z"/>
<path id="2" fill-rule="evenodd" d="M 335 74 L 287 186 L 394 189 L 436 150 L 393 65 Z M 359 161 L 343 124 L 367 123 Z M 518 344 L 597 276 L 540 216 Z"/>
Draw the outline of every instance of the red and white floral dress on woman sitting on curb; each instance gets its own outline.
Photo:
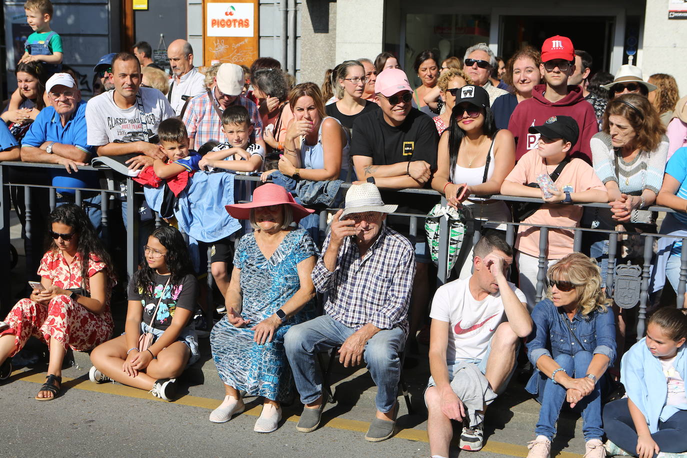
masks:
<path id="1" fill-rule="evenodd" d="M 89 256 L 88 277 L 105 271 L 106 267 L 95 255 Z M 74 260 L 68 264 L 62 251 L 48 251 L 38 266 L 38 275 L 51 279 L 52 284 L 59 288 L 91 290 L 89 278 L 82 278 L 79 253 L 76 253 Z M 0 333 L 0 336 L 16 336 L 16 350 L 10 356 L 19 352 L 30 336 L 36 336 L 47 344 L 50 338 L 54 337 L 65 347 L 69 345 L 72 350 L 81 352 L 91 350 L 110 339 L 114 328 L 110 312 L 110 291 L 113 284 L 115 281 L 110 277 L 106 287 L 105 310 L 100 314 L 87 310 L 66 295 L 57 295 L 47 304 L 21 299 L 5 318 L 10 328 Z"/>

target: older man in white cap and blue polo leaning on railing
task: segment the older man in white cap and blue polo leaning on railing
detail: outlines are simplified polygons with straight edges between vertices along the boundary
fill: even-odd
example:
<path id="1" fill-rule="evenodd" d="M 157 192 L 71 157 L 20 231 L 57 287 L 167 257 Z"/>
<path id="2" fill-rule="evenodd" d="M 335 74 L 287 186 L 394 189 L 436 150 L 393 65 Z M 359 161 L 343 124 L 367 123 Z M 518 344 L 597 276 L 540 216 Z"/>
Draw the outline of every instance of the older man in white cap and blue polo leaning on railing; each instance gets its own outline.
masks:
<path id="1" fill-rule="evenodd" d="M 21 160 L 65 166 L 66 170 L 52 176 L 60 205 L 74 202 L 74 190 L 59 186 L 97 189 L 100 185 L 95 172 L 78 171 L 79 165 L 91 161 L 93 147 L 87 141 L 86 102 L 81 100 L 74 78 L 69 73 L 55 73 L 45 83 L 45 93 L 50 106 L 38 113 L 22 139 Z M 102 219 L 100 193 L 84 192 L 82 198 L 93 227 L 98 229 Z"/>

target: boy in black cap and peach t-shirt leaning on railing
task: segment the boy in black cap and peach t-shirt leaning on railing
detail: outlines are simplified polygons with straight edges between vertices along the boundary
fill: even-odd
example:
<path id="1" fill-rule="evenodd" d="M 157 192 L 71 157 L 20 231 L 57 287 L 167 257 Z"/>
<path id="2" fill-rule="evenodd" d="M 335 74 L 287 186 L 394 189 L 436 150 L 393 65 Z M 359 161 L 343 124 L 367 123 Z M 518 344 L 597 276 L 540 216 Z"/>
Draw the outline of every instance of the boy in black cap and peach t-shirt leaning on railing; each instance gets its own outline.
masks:
<path id="1" fill-rule="evenodd" d="M 531 312 L 537 294 L 539 227 L 578 227 L 582 207 L 570 204 L 606 203 L 608 194 L 592 165 L 568 156 L 579 137 L 575 119 L 570 116 L 552 116 L 543 125 L 530 127 L 529 132 L 541 135 L 537 149 L 526 152 L 517 161 L 501 186 L 501 194 L 542 198 L 545 202 L 534 213 L 521 217 L 524 224 L 519 227 L 515 242 L 518 251 L 516 260 L 519 287 L 527 297 Z M 540 188 L 539 183 L 551 181 L 553 186 L 545 185 L 545 189 Z M 563 229 L 548 231 L 548 252 L 545 253 L 548 266 L 572 253 L 573 236 L 572 231 Z"/>

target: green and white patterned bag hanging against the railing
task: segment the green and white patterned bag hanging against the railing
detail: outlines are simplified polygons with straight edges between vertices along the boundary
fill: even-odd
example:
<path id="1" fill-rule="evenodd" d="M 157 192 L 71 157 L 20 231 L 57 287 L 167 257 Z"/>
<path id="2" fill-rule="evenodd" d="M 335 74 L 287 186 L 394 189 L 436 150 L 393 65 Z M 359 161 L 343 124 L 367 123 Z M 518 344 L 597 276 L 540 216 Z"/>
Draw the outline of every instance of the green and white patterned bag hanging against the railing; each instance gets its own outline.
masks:
<path id="1" fill-rule="evenodd" d="M 441 218 L 449 220 L 449 262 L 447 263 L 447 277 L 455 267 L 460 248 L 465 238 L 467 220 L 470 218 L 469 208 L 463 207 L 456 210 L 453 207 L 442 207 L 440 203 L 434 205 L 425 218 L 425 232 L 427 233 L 427 245 L 429 254 L 434 264 L 439 263 L 439 222 Z"/>

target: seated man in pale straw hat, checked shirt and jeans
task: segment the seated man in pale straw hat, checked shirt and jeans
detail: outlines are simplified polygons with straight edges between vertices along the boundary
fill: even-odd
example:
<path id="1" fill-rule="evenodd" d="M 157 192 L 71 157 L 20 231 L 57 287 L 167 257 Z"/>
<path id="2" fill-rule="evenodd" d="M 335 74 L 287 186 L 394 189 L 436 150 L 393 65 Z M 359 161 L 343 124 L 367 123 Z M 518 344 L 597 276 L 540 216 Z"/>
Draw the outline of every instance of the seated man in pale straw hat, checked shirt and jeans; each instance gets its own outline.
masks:
<path id="1" fill-rule="evenodd" d="M 302 433 L 317 429 L 324 410 L 317 353 L 339 346 L 339 361 L 349 367 L 364 359 L 377 385 L 376 417 L 365 439 L 380 442 L 394 433 L 415 262 L 407 238 L 385 224 L 393 211 L 396 205 L 385 205 L 374 184 L 350 187 L 313 269 L 315 288 L 326 293 L 325 313 L 286 332 L 286 356 L 305 404 L 296 426 Z"/>

